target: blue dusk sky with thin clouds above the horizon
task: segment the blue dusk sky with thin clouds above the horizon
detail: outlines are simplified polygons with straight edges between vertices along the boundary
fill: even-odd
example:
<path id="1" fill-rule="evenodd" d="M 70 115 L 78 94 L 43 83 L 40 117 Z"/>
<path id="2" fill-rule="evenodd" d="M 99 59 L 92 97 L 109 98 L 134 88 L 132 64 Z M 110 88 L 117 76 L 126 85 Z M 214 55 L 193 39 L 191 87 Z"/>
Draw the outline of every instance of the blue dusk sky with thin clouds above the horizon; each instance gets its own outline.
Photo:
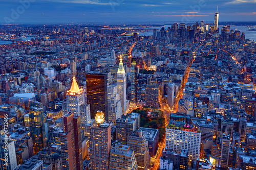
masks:
<path id="1" fill-rule="evenodd" d="M 20 2 L 26 3 L 26 8 Z M 0 23 L 256 21 L 256 0 L 0 0 Z M 24 10 L 25 9 L 25 10 Z M 20 13 L 14 15 L 13 13 Z M 7 22 L 6 22 L 7 21 Z"/>

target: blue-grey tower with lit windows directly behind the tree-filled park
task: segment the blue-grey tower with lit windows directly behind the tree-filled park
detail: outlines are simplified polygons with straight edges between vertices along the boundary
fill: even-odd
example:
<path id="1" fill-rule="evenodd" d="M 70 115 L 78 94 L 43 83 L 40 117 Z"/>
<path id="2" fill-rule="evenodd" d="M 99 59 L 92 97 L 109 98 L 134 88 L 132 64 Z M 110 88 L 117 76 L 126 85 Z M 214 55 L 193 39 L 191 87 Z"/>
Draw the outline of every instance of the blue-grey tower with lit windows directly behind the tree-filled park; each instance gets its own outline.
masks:
<path id="1" fill-rule="evenodd" d="M 158 84 L 156 77 L 148 77 L 147 78 L 147 85 L 146 85 L 146 95 L 145 95 L 145 102 L 146 106 L 158 108 Z"/>

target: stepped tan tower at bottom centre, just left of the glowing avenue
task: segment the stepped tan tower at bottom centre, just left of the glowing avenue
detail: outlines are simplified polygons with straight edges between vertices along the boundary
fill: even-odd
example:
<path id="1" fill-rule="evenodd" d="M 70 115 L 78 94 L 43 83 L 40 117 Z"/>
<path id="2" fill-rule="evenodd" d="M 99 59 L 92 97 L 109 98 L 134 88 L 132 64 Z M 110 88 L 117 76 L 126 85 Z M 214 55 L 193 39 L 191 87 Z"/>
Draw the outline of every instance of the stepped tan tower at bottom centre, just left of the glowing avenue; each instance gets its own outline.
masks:
<path id="1" fill-rule="evenodd" d="M 150 153 L 147 148 L 145 135 L 141 130 L 137 130 L 128 136 L 127 145 L 134 150 L 139 170 L 147 169 L 150 162 Z"/>

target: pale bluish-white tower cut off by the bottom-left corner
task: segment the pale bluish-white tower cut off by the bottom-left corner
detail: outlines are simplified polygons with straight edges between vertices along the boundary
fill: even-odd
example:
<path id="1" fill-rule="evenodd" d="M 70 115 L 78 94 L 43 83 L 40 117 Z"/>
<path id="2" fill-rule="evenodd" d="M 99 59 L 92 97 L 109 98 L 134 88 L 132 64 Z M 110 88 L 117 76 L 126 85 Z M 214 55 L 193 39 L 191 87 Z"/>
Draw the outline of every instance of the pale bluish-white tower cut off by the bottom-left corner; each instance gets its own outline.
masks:
<path id="1" fill-rule="evenodd" d="M 0 169 L 12 170 L 17 166 L 15 144 L 11 136 L 3 135 L 0 138 Z"/>

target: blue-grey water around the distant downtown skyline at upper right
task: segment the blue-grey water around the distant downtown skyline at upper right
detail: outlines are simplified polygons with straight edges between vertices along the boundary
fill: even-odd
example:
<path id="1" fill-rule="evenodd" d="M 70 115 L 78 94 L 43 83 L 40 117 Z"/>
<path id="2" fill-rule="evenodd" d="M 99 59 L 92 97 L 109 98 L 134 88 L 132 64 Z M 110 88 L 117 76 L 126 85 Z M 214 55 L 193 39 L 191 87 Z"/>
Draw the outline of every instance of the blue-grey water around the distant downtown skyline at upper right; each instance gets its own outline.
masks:
<path id="1" fill-rule="evenodd" d="M 168 27 L 172 27 L 172 25 L 166 25 L 164 26 L 164 29 L 167 30 Z M 221 32 L 221 28 L 223 26 L 219 26 L 219 30 Z M 256 27 L 256 26 L 254 26 Z M 148 28 L 148 29 L 161 29 L 162 27 L 152 27 L 152 28 Z M 256 29 L 256 28 L 251 28 L 251 29 Z M 248 26 L 230 26 L 230 30 L 240 30 L 241 34 L 242 32 L 244 32 L 245 34 L 245 39 L 249 39 L 249 40 L 254 40 L 256 41 L 256 31 L 248 31 L 249 27 Z M 148 31 L 148 32 L 144 32 L 144 33 L 140 33 L 140 36 L 151 36 L 153 35 L 153 31 Z"/>

